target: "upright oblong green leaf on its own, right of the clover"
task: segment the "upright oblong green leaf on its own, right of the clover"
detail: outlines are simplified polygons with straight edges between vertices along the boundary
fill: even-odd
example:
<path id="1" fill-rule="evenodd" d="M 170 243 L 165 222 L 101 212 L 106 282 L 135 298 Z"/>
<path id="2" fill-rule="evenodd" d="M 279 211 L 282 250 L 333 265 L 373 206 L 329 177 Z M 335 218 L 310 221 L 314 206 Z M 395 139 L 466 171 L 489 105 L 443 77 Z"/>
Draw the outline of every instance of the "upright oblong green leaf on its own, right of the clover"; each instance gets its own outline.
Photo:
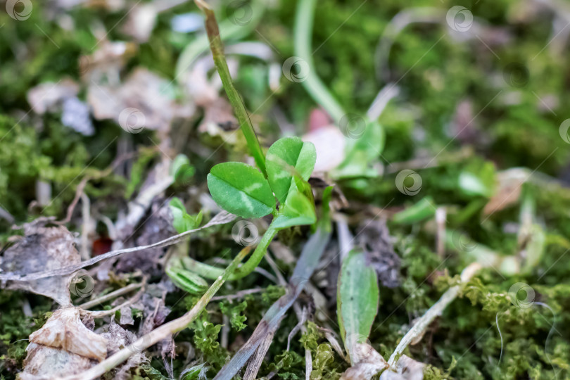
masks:
<path id="1" fill-rule="evenodd" d="M 378 312 L 376 271 L 367 264 L 364 252 L 350 251 L 343 260 L 336 296 L 341 336 L 351 355 L 357 343 L 365 343 Z"/>

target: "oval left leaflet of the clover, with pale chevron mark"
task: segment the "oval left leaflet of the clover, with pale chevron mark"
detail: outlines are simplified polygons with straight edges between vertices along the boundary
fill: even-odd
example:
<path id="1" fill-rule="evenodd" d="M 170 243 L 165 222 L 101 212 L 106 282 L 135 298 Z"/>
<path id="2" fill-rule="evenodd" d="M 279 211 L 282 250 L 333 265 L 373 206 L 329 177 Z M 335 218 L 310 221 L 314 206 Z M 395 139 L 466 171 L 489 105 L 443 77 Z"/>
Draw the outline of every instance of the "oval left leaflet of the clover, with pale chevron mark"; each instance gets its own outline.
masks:
<path id="1" fill-rule="evenodd" d="M 241 217 L 262 217 L 275 208 L 267 179 L 250 165 L 221 163 L 208 175 L 210 194 L 224 210 Z"/>

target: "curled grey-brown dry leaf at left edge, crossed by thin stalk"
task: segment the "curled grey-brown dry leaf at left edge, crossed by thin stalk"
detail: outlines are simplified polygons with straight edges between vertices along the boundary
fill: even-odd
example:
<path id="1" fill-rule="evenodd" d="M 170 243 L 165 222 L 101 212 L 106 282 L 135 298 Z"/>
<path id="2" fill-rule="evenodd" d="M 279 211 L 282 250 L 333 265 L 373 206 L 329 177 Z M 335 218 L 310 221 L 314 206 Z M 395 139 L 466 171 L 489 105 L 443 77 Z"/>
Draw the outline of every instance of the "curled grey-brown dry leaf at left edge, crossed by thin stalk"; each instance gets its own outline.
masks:
<path id="1" fill-rule="evenodd" d="M 26 274 L 57 270 L 78 264 L 80 254 L 73 245 L 73 235 L 63 226 L 44 227 L 42 221 L 26 224 L 25 236 L 8 248 L 0 258 L 1 272 Z M 71 277 L 52 276 L 33 281 L 8 281 L 8 289 L 21 289 L 53 298 L 60 305 L 71 303 Z"/>

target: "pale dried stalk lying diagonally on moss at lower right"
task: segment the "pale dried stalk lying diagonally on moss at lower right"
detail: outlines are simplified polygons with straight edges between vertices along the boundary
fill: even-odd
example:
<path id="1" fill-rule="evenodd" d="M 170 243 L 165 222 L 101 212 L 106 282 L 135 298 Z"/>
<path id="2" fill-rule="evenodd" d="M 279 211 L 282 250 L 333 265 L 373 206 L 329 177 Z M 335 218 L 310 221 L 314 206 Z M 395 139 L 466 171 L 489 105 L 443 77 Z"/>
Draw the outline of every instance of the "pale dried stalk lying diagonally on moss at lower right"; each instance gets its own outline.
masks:
<path id="1" fill-rule="evenodd" d="M 433 322 L 433 319 L 436 319 L 443 310 L 457 298 L 457 294 L 459 294 L 462 286 L 467 283 L 475 274 L 481 269 L 481 264 L 479 262 L 471 262 L 471 264 L 467 265 L 467 267 L 461 272 L 461 283 L 459 285 L 452 286 L 448 291 L 443 293 L 441 298 L 426 311 L 422 317 L 414 324 L 414 326 L 407 331 L 405 336 L 402 338 L 400 343 L 398 343 L 398 347 L 395 348 L 394 352 L 390 356 L 388 360 L 388 365 L 392 368 L 398 363 L 398 359 L 403 354 L 404 350 L 407 346 L 412 343 L 416 338 L 424 334 L 429 324 Z"/>

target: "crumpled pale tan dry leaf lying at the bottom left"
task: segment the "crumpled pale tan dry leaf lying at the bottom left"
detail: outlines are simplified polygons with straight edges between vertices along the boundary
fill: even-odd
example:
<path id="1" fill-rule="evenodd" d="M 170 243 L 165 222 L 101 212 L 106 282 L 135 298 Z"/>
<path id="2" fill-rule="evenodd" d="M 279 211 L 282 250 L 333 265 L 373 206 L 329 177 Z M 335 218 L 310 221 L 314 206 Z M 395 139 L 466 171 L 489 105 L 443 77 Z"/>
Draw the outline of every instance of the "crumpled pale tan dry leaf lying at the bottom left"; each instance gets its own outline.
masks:
<path id="1" fill-rule="evenodd" d="M 80 320 L 80 309 L 75 307 L 53 312 L 46 324 L 30 335 L 30 342 L 99 361 L 107 356 L 107 339 L 87 329 Z"/>

